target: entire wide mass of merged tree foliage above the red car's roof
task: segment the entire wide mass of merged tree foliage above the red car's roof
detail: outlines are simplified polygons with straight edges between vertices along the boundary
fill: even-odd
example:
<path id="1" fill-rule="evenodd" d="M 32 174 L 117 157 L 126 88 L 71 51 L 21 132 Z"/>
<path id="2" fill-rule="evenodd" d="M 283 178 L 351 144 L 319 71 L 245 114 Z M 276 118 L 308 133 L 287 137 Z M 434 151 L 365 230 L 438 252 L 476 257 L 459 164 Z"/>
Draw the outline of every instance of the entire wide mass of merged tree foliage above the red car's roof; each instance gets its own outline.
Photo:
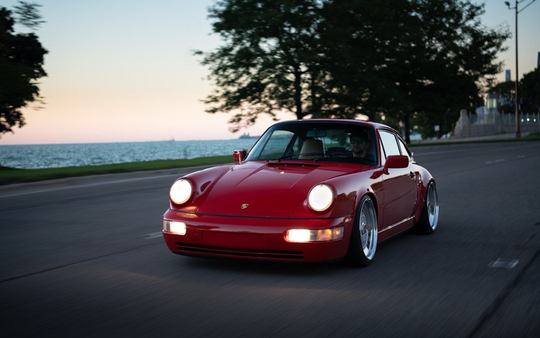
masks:
<path id="1" fill-rule="evenodd" d="M 210 9 L 225 45 L 203 55 L 216 89 L 208 112 L 234 112 L 233 131 L 259 114 L 366 115 L 424 136 L 481 105 L 508 29 L 481 25 L 461 0 L 222 0 Z"/>

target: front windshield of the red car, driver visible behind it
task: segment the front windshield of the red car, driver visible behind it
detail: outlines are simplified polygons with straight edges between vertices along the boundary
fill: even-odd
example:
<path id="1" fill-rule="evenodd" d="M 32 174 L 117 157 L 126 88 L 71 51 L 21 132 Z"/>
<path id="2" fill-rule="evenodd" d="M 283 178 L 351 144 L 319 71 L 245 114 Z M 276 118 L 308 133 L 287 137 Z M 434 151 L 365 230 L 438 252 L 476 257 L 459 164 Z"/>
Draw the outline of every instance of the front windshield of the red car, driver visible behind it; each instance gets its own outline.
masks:
<path id="1" fill-rule="evenodd" d="M 374 131 L 354 122 L 291 121 L 269 128 L 247 161 L 314 160 L 377 163 Z"/>

